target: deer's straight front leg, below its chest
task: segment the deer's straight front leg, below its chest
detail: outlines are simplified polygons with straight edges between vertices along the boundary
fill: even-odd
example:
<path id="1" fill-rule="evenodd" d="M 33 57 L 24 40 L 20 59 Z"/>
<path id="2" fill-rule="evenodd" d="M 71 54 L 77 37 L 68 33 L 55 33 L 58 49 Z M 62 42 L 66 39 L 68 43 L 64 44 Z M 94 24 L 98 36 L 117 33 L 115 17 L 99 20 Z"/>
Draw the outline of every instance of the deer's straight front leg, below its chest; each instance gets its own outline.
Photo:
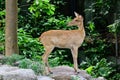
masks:
<path id="1" fill-rule="evenodd" d="M 75 70 L 75 72 L 78 73 L 78 62 L 77 62 L 78 48 L 77 47 L 73 47 L 71 49 L 71 52 L 72 52 L 72 56 L 73 56 L 74 70 Z"/>

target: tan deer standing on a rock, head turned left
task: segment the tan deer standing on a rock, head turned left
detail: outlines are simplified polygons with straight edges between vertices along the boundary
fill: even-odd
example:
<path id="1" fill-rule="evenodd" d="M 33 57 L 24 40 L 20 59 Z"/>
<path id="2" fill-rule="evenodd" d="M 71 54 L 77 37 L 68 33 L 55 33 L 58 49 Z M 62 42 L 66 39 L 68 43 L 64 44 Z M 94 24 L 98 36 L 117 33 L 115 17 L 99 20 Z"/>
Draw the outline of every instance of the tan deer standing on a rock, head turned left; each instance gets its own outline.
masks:
<path id="1" fill-rule="evenodd" d="M 55 47 L 68 48 L 71 50 L 74 70 L 78 71 L 78 48 L 82 45 L 85 39 L 85 29 L 82 15 L 74 12 L 75 18 L 68 22 L 68 26 L 77 26 L 76 30 L 48 30 L 43 32 L 39 37 L 39 40 L 44 46 L 45 52 L 42 55 L 43 63 L 46 67 L 46 73 L 52 73 L 48 63 L 48 56 Z"/>

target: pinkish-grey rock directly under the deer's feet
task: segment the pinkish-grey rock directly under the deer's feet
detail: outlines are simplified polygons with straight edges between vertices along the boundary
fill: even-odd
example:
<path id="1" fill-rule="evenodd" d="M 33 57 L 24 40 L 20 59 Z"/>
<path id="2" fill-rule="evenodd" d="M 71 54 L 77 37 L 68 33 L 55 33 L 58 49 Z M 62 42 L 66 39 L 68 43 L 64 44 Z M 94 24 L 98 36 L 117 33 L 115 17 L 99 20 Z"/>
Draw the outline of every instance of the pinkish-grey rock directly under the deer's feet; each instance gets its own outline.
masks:
<path id="1" fill-rule="evenodd" d="M 79 70 L 77 74 L 72 67 L 58 66 L 52 68 L 51 77 L 55 80 L 71 80 L 71 78 L 79 78 L 78 80 L 90 80 L 92 77 L 84 70 Z M 76 79 L 77 80 L 77 79 Z"/>

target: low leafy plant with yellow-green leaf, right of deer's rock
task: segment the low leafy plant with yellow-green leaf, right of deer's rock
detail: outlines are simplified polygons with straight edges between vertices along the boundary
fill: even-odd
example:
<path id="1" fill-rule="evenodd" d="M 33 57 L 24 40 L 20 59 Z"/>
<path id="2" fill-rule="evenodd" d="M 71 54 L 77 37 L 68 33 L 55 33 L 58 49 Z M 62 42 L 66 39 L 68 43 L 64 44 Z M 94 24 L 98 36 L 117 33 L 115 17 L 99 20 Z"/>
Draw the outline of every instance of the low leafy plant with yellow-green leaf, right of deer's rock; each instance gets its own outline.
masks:
<path id="1" fill-rule="evenodd" d="M 97 61 L 96 61 L 97 60 Z M 90 62 L 92 61 L 92 62 Z M 86 61 L 81 63 L 81 66 L 87 66 L 86 71 L 93 77 L 108 77 L 115 70 L 111 67 L 112 63 L 107 62 L 105 58 L 98 60 L 97 58 L 93 60 L 86 59 Z"/>

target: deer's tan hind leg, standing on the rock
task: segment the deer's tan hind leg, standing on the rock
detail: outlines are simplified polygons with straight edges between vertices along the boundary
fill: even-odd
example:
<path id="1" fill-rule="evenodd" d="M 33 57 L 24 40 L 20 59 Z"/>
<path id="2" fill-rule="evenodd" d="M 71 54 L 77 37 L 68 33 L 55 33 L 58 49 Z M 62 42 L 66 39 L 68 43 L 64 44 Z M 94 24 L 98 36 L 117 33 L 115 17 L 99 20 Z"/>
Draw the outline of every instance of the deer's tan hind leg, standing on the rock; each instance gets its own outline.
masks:
<path id="1" fill-rule="evenodd" d="M 45 74 L 49 74 L 49 73 L 52 73 L 52 72 L 50 70 L 49 63 L 48 63 L 48 56 L 52 52 L 54 47 L 53 46 L 44 46 L 44 48 L 45 48 L 45 53 L 42 56 L 42 60 L 45 64 Z"/>

